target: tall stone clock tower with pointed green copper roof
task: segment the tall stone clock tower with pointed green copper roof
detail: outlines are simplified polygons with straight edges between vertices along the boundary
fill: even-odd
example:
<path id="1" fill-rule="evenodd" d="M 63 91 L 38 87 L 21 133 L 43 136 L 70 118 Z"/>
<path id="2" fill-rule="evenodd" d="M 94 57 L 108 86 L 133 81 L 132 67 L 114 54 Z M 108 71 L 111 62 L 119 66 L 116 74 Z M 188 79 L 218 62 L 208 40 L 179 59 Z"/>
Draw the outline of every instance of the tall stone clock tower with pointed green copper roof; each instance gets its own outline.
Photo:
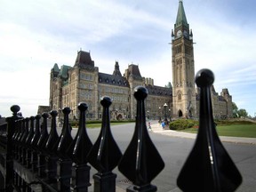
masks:
<path id="1" fill-rule="evenodd" d="M 195 65 L 193 34 L 180 0 L 172 30 L 172 101 L 173 116 L 196 116 Z"/>

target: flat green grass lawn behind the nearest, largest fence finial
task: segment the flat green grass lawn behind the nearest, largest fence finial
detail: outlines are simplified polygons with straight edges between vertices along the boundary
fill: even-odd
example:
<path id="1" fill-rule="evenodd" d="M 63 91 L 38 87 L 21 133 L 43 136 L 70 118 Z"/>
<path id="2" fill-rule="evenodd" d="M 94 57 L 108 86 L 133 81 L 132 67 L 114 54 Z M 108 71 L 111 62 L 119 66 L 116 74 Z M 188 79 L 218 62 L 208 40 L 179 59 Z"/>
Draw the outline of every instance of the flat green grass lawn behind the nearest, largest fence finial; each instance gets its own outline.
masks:
<path id="1" fill-rule="evenodd" d="M 196 128 L 182 130 L 182 132 L 196 133 Z M 256 124 L 217 125 L 219 136 L 256 138 Z"/>

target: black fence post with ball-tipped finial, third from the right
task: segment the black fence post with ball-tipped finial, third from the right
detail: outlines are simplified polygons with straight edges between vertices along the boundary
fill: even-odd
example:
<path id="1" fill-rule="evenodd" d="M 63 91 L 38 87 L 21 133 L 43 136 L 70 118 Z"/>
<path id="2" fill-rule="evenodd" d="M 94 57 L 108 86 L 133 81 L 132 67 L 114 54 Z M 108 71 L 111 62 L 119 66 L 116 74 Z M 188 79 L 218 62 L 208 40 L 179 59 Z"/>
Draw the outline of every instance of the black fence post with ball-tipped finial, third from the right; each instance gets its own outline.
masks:
<path id="1" fill-rule="evenodd" d="M 122 153 L 110 130 L 109 106 L 112 101 L 109 97 L 103 97 L 100 104 L 103 106 L 100 135 L 88 155 L 88 161 L 98 171 L 93 175 L 94 191 L 115 192 L 116 174 L 112 170 L 119 163 Z"/>

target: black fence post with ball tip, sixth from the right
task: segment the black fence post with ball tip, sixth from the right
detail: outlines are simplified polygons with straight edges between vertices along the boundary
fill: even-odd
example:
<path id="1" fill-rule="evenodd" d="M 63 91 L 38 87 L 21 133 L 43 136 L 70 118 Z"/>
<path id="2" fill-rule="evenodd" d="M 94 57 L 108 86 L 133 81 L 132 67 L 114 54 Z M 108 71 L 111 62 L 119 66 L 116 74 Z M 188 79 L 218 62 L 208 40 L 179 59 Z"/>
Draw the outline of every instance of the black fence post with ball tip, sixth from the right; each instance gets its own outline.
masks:
<path id="1" fill-rule="evenodd" d="M 52 125 L 51 131 L 49 134 L 49 138 L 46 142 L 45 148 L 47 150 L 48 156 L 46 156 L 46 174 L 47 180 L 49 183 L 56 182 L 56 174 L 57 174 L 57 160 L 58 156 L 56 155 L 58 143 L 60 141 L 57 129 L 56 129 L 56 116 L 58 112 L 56 110 L 52 110 L 50 112 L 52 116 Z"/>

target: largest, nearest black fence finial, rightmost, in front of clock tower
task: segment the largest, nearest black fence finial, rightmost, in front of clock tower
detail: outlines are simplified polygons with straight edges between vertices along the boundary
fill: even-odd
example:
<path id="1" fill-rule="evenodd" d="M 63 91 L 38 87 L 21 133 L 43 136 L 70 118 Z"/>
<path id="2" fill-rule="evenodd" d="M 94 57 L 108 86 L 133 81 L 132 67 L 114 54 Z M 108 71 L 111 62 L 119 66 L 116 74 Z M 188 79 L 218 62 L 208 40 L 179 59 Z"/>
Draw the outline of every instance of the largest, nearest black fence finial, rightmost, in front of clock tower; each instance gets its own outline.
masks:
<path id="1" fill-rule="evenodd" d="M 213 82 L 211 70 L 201 69 L 197 72 L 196 84 L 200 87 L 199 129 L 195 146 L 177 179 L 177 185 L 183 191 L 231 192 L 242 182 L 213 122 L 210 90 Z"/>

